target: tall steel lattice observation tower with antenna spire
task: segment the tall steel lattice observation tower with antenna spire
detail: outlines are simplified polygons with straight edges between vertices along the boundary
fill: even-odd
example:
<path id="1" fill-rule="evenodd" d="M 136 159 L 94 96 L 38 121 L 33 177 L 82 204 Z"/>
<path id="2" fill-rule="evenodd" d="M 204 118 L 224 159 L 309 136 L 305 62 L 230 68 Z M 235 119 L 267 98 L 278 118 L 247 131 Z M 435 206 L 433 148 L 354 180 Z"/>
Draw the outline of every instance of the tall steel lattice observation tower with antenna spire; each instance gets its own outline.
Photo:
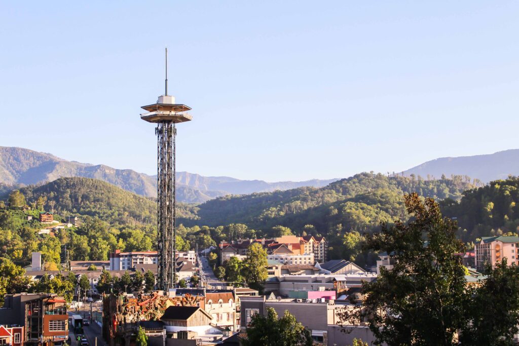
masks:
<path id="1" fill-rule="evenodd" d="M 168 50 L 166 49 L 166 93 L 156 103 L 142 106 L 141 119 L 157 124 L 157 285 L 167 291 L 176 283 L 176 123 L 192 120 L 189 108 L 168 95 Z"/>

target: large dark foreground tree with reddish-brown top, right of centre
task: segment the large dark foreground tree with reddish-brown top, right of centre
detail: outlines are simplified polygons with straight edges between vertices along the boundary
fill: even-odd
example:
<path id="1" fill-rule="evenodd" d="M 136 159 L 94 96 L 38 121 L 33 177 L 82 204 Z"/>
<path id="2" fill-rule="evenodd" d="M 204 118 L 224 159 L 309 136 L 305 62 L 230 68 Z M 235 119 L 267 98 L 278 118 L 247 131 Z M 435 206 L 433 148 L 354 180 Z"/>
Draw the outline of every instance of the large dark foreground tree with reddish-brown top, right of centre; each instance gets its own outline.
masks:
<path id="1" fill-rule="evenodd" d="M 411 221 L 383 225 L 366 238 L 367 247 L 392 254 L 393 269 L 381 267 L 376 281 L 363 283 L 362 308 L 345 310 L 343 321 L 368 319 L 378 343 L 454 345 L 467 300 L 465 269 L 456 255 L 465 250 L 456 239 L 458 227 L 433 199 L 422 202 L 416 193 L 404 199 Z"/>

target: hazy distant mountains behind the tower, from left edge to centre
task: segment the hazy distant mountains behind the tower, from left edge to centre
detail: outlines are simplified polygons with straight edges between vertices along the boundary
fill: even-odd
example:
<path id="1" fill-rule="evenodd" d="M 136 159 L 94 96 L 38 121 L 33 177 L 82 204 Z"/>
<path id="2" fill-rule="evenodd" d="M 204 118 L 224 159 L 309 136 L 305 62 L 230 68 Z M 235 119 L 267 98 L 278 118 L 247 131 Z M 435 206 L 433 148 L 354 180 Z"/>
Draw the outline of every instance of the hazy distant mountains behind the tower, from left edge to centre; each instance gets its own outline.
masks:
<path id="1" fill-rule="evenodd" d="M 105 181 L 147 197 L 156 197 L 157 176 L 133 170 L 115 169 L 104 164 L 93 165 L 67 161 L 52 154 L 18 148 L 0 147 L 0 187 L 24 186 L 52 182 L 61 177 L 87 177 Z M 337 179 L 312 179 L 305 182 L 268 183 L 218 176 L 206 177 L 177 172 L 177 198 L 185 203 L 201 203 L 226 195 L 287 190 L 303 186 L 322 187 Z"/>

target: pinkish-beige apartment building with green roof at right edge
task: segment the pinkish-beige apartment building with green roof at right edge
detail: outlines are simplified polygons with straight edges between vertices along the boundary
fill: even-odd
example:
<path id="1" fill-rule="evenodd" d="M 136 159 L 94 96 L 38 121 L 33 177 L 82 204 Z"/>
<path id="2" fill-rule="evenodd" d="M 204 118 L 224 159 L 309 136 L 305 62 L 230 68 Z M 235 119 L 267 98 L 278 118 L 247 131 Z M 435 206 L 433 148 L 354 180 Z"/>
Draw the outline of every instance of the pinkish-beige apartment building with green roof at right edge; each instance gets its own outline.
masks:
<path id="1" fill-rule="evenodd" d="M 481 241 L 474 245 L 476 269 L 483 270 L 487 264 L 494 268 L 503 258 L 507 259 L 508 265 L 519 264 L 518 247 L 519 237 L 482 237 Z"/>

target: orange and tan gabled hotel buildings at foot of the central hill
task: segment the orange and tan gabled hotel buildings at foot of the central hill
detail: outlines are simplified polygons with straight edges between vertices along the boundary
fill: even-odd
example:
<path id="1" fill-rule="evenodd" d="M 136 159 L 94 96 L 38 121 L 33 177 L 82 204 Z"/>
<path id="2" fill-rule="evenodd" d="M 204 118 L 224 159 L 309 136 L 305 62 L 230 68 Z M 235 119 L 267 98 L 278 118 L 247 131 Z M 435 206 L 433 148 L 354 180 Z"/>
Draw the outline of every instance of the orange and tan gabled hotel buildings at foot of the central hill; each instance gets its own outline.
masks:
<path id="1" fill-rule="evenodd" d="M 282 236 L 273 239 L 239 239 L 233 242 L 221 242 L 221 261 L 231 257 L 243 259 L 247 256 L 251 244 L 261 244 L 267 251 L 267 258 L 284 265 L 314 265 L 325 262 L 328 255 L 328 243 L 324 237 L 317 236 Z"/>

